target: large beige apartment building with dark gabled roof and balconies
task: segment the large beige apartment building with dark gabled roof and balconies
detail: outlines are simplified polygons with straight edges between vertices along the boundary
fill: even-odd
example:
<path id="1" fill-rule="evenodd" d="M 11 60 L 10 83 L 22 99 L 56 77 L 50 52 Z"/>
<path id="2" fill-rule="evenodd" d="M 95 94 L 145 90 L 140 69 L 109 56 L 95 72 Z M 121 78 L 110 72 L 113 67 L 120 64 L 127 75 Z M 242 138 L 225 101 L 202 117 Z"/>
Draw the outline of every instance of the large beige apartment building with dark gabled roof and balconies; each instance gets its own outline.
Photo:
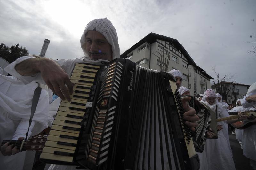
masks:
<path id="1" fill-rule="evenodd" d="M 190 89 L 191 95 L 203 93 L 207 88 L 211 88 L 210 80 L 213 78 L 196 65 L 176 39 L 150 33 L 121 54 L 121 58 L 128 58 L 143 67 L 161 70 L 161 59 L 158 58 L 161 55 L 164 58 L 170 57 L 167 72 L 177 69 L 183 73 L 181 85 Z M 164 59 L 163 65 L 165 66 L 166 63 Z"/>

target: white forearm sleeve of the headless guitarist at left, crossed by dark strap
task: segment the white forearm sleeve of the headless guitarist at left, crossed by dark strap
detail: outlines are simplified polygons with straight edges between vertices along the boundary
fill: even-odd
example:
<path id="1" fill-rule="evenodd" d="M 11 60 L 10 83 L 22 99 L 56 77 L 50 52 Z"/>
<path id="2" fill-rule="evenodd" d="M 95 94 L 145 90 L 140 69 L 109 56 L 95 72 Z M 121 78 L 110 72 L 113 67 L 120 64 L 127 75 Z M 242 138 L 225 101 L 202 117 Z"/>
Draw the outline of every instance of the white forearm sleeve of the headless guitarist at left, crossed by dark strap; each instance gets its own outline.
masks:
<path id="1" fill-rule="evenodd" d="M 12 140 L 18 140 L 19 137 L 25 137 L 26 133 L 28 131 L 28 122 L 29 120 L 27 119 L 22 119 L 19 123 L 19 125 L 16 128 L 16 131 L 14 132 L 13 136 L 12 136 Z M 30 128 L 29 128 L 29 132 L 28 132 L 28 138 L 31 135 L 32 129 L 35 126 L 35 121 L 31 122 Z"/>

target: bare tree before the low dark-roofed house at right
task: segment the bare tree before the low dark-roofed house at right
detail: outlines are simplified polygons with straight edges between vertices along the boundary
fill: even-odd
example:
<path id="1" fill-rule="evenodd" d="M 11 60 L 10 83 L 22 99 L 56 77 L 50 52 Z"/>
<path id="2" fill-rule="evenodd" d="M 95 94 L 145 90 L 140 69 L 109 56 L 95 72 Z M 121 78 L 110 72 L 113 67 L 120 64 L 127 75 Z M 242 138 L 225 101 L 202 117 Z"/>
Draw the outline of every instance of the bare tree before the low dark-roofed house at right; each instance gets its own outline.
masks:
<path id="1" fill-rule="evenodd" d="M 227 74 L 223 78 L 220 78 L 219 73 L 215 71 L 215 66 L 212 66 L 212 70 L 216 74 L 216 79 L 213 78 L 213 83 L 211 88 L 215 89 L 222 96 L 223 100 L 227 101 L 227 98 L 230 97 L 232 100 L 236 100 L 236 95 L 232 95 L 232 87 L 236 82 L 233 80 L 234 74 Z"/>

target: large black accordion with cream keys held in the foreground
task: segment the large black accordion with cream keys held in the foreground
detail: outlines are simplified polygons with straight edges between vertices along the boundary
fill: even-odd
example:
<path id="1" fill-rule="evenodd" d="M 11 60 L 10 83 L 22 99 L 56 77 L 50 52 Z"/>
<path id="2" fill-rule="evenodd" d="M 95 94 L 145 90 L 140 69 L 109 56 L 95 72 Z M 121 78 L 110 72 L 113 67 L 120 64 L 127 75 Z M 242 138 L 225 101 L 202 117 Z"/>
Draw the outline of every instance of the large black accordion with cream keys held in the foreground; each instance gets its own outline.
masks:
<path id="1" fill-rule="evenodd" d="M 117 58 L 77 63 L 40 160 L 88 169 L 199 169 L 173 76 Z"/>

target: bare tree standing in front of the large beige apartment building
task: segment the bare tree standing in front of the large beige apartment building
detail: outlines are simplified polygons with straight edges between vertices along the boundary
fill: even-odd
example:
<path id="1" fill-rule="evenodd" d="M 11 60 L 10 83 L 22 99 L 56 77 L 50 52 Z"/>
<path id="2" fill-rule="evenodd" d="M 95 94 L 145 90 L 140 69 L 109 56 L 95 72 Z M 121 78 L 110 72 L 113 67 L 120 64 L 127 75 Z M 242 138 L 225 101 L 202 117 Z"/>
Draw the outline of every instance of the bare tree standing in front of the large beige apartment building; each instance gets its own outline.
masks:
<path id="1" fill-rule="evenodd" d="M 162 52 L 160 53 L 158 50 L 156 50 L 156 52 L 158 54 L 155 54 L 153 52 L 152 52 L 152 54 L 154 54 L 158 58 L 160 70 L 167 72 L 168 66 L 169 66 L 169 63 L 170 63 L 170 57 L 172 55 L 172 53 L 170 51 L 170 47 L 172 45 L 172 42 L 169 43 L 169 45 L 168 45 L 168 51 L 165 50 L 164 44 L 161 43 L 161 45 L 162 45 L 162 49 L 163 49 Z M 166 51 L 166 54 L 164 53 L 164 51 Z"/>

